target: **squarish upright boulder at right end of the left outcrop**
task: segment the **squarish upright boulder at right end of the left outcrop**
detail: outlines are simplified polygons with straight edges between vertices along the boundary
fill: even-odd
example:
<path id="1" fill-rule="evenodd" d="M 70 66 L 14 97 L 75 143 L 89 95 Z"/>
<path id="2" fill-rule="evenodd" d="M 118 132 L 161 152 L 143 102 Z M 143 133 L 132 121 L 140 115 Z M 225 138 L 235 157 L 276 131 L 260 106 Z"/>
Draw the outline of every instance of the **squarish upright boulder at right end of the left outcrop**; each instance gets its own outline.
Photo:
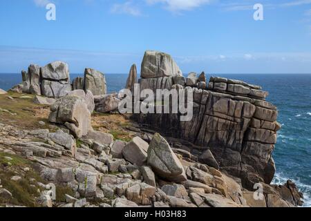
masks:
<path id="1" fill-rule="evenodd" d="M 84 71 L 84 90 L 91 90 L 93 95 L 106 95 L 106 79 L 100 71 L 86 68 Z"/>

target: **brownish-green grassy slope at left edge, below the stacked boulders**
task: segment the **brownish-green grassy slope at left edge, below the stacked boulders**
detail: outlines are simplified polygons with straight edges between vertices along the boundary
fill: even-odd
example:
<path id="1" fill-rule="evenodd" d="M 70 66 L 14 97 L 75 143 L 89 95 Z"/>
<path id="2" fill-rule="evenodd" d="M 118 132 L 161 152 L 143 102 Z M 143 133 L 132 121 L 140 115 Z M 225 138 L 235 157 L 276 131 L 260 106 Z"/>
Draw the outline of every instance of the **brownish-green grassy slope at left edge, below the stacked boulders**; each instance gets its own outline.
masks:
<path id="1" fill-rule="evenodd" d="M 49 108 L 34 104 L 33 97 L 34 95 L 18 93 L 0 95 L 0 122 L 25 129 L 47 128 Z M 41 126 L 39 121 L 46 122 L 46 126 Z"/>

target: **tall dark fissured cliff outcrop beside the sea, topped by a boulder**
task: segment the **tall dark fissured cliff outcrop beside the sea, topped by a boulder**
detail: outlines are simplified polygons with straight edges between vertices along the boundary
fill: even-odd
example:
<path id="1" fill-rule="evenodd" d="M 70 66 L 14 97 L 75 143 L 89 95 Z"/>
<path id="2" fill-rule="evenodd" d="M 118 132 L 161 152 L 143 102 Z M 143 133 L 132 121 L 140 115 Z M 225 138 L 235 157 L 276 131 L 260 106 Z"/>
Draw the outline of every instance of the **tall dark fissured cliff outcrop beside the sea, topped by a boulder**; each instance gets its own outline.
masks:
<path id="1" fill-rule="evenodd" d="M 140 114 L 135 115 L 138 122 L 189 142 L 194 155 L 210 150 L 220 169 L 241 177 L 249 188 L 257 182 L 270 183 L 275 172 L 272 151 L 281 126 L 276 122 L 276 107 L 265 101 L 267 92 L 260 86 L 220 77 L 211 77 L 207 89 L 201 89 L 202 84 L 199 89 L 198 83 L 204 82 L 205 76 L 197 79 L 191 73 L 184 79 L 176 67 L 169 55 L 146 52 L 140 89 L 191 91 L 192 119 L 180 122 L 180 114 Z"/>

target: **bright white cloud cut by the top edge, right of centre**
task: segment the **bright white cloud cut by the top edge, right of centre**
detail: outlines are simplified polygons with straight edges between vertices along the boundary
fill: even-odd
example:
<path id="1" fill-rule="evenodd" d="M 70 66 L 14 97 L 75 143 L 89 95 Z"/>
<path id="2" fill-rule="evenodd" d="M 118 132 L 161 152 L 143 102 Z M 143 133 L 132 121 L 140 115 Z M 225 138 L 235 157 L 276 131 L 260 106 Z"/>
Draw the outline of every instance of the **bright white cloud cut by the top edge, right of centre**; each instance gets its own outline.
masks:
<path id="1" fill-rule="evenodd" d="M 182 10 L 192 10 L 205 4 L 213 2 L 213 0 L 146 0 L 149 4 L 163 3 L 167 10 L 178 12 Z"/>

